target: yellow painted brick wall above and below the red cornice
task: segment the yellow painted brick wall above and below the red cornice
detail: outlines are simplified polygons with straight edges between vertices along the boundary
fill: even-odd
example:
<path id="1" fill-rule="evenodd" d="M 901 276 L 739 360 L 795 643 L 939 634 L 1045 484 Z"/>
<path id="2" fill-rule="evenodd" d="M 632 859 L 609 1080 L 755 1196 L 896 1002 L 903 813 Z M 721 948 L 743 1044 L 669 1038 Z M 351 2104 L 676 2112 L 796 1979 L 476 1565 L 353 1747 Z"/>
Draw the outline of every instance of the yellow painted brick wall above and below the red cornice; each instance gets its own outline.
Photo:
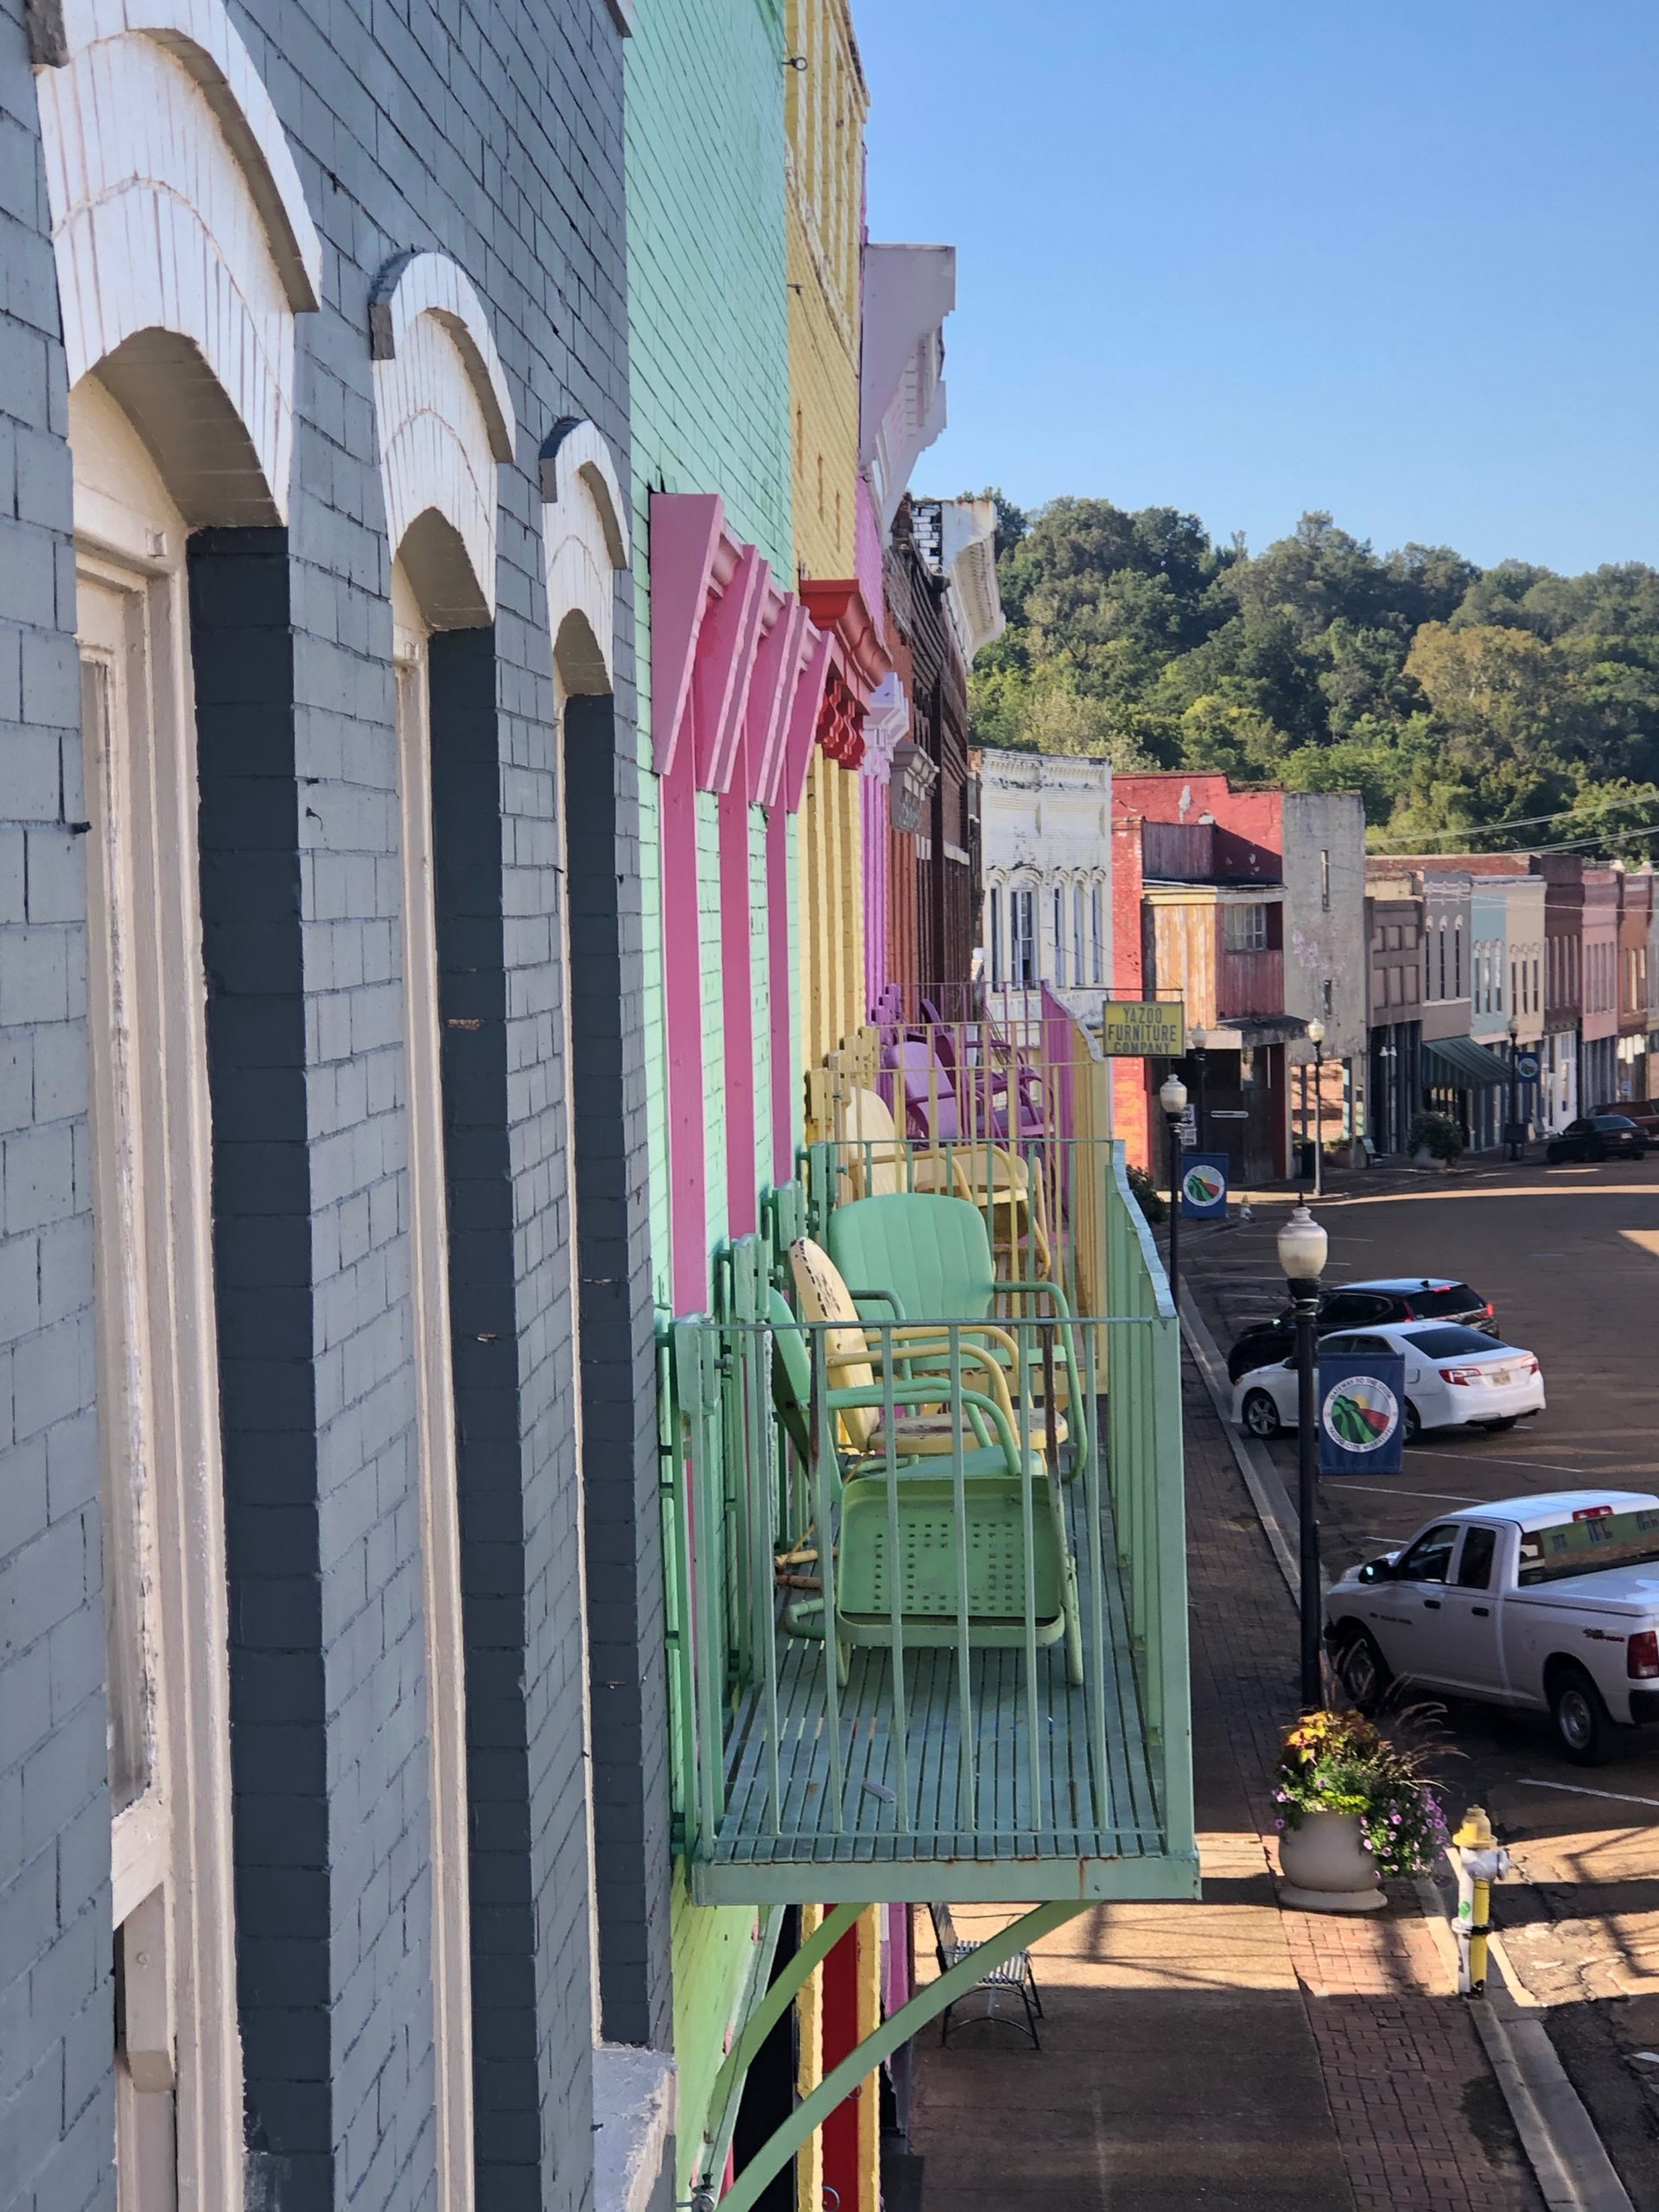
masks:
<path id="1" fill-rule="evenodd" d="M 790 0 L 790 407 L 801 575 L 854 573 L 858 484 L 858 232 L 869 93 L 847 0 Z M 858 774 L 812 757 L 801 838 L 805 1066 L 865 1020 L 865 852 Z"/>

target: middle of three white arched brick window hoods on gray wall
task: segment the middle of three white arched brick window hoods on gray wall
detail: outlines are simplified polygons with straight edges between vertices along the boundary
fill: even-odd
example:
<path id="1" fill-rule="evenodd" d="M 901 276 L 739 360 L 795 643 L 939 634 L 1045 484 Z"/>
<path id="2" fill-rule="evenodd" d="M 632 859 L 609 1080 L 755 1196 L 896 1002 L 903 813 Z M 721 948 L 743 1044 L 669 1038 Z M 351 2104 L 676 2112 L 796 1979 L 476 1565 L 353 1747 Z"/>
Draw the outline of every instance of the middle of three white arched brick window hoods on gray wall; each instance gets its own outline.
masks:
<path id="1" fill-rule="evenodd" d="M 513 400 L 484 310 L 453 261 L 398 254 L 380 270 L 369 352 L 392 553 L 403 553 L 434 628 L 493 622 L 495 465 L 513 458 Z M 405 549 L 427 515 L 453 533 L 449 555 Z"/>

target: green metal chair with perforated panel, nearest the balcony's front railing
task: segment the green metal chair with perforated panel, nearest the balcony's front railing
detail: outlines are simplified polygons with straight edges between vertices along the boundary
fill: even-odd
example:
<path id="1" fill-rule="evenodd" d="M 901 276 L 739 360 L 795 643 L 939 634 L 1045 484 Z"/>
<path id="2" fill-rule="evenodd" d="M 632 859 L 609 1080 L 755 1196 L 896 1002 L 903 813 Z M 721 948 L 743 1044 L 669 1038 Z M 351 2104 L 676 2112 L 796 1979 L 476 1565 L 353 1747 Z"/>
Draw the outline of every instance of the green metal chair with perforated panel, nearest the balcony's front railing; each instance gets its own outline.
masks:
<path id="1" fill-rule="evenodd" d="M 1082 1683 L 1077 1575 L 1060 1498 L 1037 1453 L 1020 1451 L 995 1365 L 980 1354 L 989 1389 L 962 1383 L 973 1360 L 951 1378 L 898 1374 L 900 1360 L 869 1345 L 849 1298 L 845 1316 L 812 1316 L 816 1332 L 796 1323 L 779 1292 L 770 1316 L 781 1425 L 803 1460 L 818 1464 L 812 1433 L 821 1420 L 841 1478 L 814 1509 L 823 1597 L 787 1606 L 790 1632 L 821 1637 L 834 1617 L 843 1672 L 856 1644 L 949 1648 L 967 1632 L 971 1648 L 1035 1650 L 1064 1637 L 1066 1677 Z M 823 1343 L 816 1409 L 812 1334 Z M 933 1338 L 938 1358 L 938 1334 L 918 1327 L 911 1340 Z M 825 1522 L 836 1524 L 827 1562 Z"/>

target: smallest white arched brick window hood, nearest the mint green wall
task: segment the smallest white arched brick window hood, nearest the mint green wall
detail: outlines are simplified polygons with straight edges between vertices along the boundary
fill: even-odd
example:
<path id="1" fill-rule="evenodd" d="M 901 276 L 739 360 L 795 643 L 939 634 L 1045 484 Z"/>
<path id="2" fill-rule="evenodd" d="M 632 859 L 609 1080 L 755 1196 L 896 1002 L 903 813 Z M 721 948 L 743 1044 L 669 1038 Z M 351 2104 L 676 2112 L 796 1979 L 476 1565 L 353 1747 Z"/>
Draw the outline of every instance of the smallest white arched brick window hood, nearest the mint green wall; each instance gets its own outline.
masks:
<path id="1" fill-rule="evenodd" d="M 546 619 L 564 692 L 615 686 L 617 568 L 628 566 L 628 511 L 611 447 L 593 422 L 564 420 L 542 447 Z M 571 624 L 580 615 L 580 624 Z"/>

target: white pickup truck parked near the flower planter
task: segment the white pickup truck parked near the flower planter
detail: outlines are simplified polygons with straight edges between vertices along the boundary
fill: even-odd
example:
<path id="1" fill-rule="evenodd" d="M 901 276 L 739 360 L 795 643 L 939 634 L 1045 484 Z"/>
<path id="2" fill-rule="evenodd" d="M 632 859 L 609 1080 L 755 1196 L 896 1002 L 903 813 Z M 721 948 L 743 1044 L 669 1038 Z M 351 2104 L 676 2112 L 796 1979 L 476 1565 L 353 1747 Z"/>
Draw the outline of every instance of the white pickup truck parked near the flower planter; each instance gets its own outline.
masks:
<path id="1" fill-rule="evenodd" d="M 1553 1491 L 1464 1506 L 1325 1597 L 1325 1637 L 1360 1710 L 1389 1681 L 1548 1712 L 1568 1759 L 1659 1721 L 1659 1498 Z"/>

